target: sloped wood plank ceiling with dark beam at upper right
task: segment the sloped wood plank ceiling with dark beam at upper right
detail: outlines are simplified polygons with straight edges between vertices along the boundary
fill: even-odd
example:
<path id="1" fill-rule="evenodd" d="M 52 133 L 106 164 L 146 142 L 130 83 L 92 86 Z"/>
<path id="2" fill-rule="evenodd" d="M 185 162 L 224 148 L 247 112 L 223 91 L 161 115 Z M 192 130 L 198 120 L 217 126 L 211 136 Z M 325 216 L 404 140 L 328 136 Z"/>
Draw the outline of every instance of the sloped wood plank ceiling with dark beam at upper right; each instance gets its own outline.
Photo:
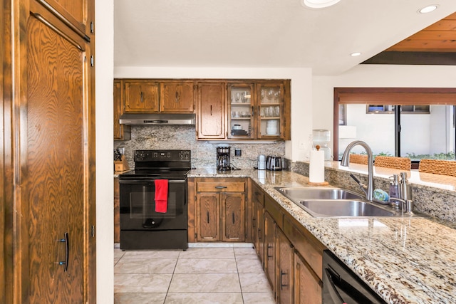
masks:
<path id="1" fill-rule="evenodd" d="M 363 63 L 456 65 L 456 13 L 405 38 Z"/>

